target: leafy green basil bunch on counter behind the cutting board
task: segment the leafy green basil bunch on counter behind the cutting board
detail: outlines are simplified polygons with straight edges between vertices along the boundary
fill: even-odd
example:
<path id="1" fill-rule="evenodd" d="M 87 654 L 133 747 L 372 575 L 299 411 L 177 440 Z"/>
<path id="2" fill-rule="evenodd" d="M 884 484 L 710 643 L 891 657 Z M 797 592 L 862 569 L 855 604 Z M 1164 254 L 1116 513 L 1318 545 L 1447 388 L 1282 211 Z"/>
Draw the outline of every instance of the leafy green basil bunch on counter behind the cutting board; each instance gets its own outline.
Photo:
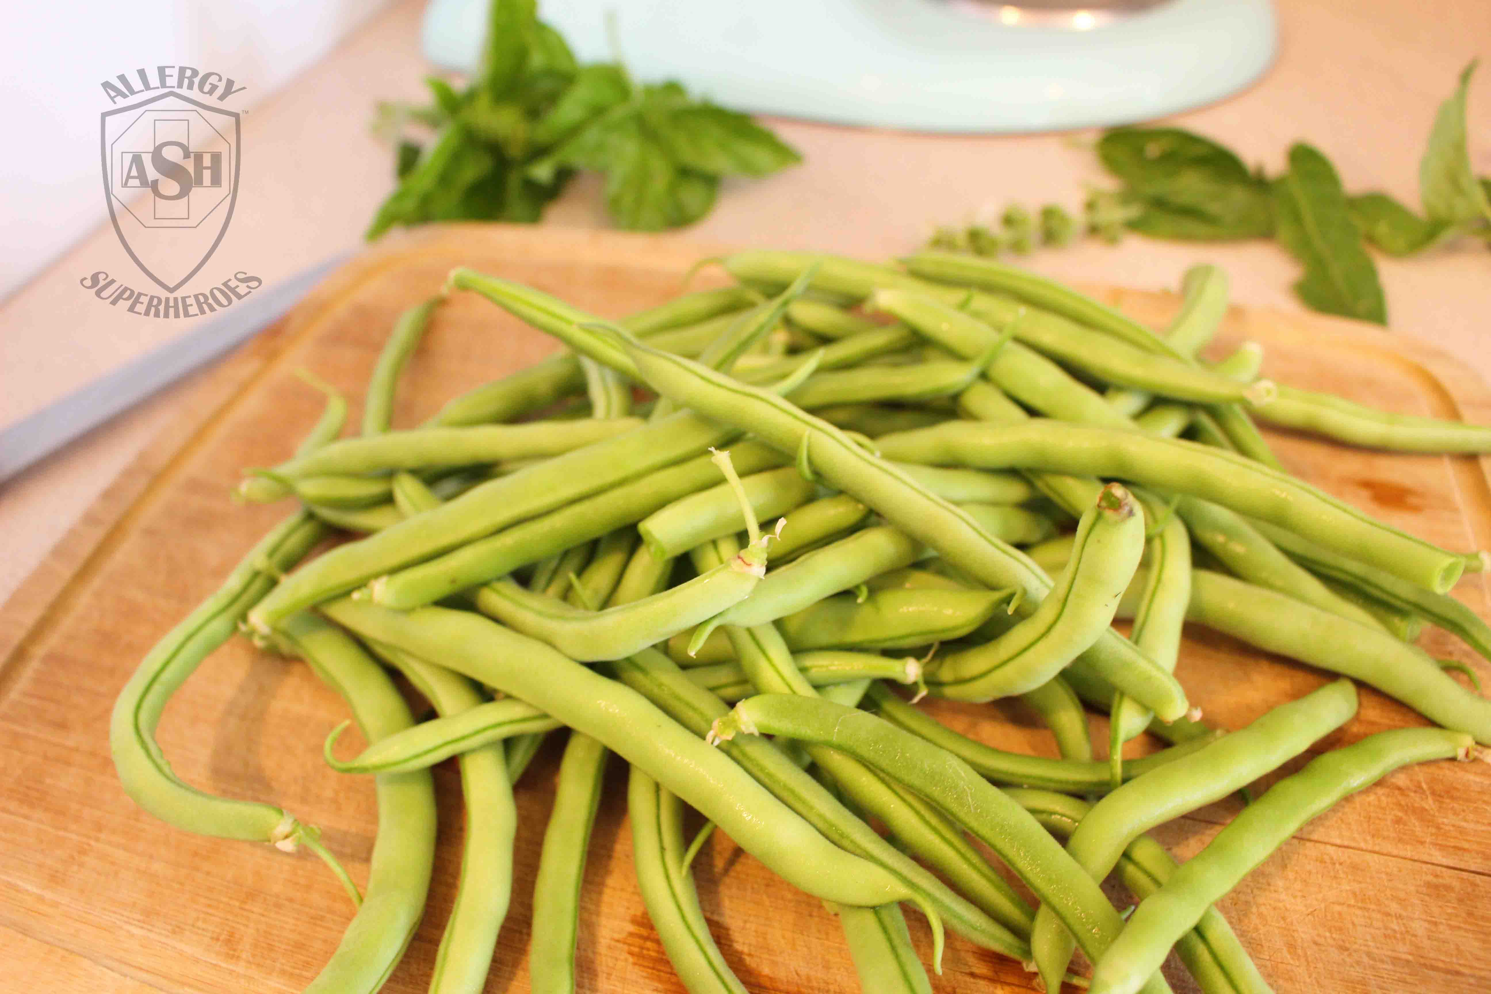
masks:
<path id="1" fill-rule="evenodd" d="M 638 85 L 613 63 L 580 66 L 534 0 L 494 0 L 482 60 L 458 92 L 426 80 L 428 107 L 380 106 L 398 186 L 367 237 L 429 221 L 538 221 L 576 170 L 605 174 L 620 228 L 658 231 L 710 212 L 722 176 L 765 176 L 801 156 L 747 115 L 674 82 Z M 432 128 L 428 143 L 407 127 Z"/>

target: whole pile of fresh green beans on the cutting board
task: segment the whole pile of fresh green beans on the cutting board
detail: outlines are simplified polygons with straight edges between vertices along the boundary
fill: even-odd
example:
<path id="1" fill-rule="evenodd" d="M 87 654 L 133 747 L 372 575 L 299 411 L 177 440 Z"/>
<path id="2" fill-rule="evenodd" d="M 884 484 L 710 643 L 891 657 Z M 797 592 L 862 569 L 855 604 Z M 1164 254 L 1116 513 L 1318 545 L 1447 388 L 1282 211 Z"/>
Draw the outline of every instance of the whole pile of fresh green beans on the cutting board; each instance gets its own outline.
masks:
<path id="1" fill-rule="evenodd" d="M 1227 308 L 1215 267 L 1187 273 L 1176 317 L 1151 329 L 984 259 L 720 262 L 732 286 L 620 319 L 456 270 L 392 329 L 356 438 L 338 438 L 347 401 L 307 374 L 325 414 L 234 490 L 297 513 L 119 694 L 110 747 L 130 796 L 177 829 L 304 845 L 332 867 L 358 909 L 315 991 L 371 994 L 403 957 L 435 852 L 429 767 L 449 759 L 462 870 L 429 990 L 483 990 L 522 878 L 514 788 L 562 730 L 535 991 L 576 990 L 605 791 L 626 799 L 638 893 L 692 994 L 746 990 L 690 875 L 720 833 L 839 919 L 865 991 L 935 990 L 944 930 L 1051 991 L 1079 981 L 1078 946 L 1102 994 L 1167 991 L 1170 949 L 1206 994 L 1267 991 L 1217 903 L 1342 797 L 1482 754 L 1491 702 L 1448 669 L 1476 681 L 1491 626 L 1449 595 L 1484 554 L 1290 475 L 1252 416 L 1413 453 L 1488 453 L 1491 428 L 1260 379 L 1255 346 L 1199 358 Z M 458 291 L 564 350 L 395 429 L 401 368 Z M 312 556 L 327 536 L 343 541 Z M 1187 621 L 1337 680 L 1215 727 L 1215 702 L 1175 677 Z M 1413 645 L 1424 624 L 1463 657 Z M 186 784 L 155 741 L 174 690 L 237 630 L 304 660 L 361 729 L 355 756 L 338 744 L 350 721 L 324 756 L 374 778 L 364 891 L 315 827 Z M 1358 683 L 1439 727 L 1320 753 L 1181 867 L 1147 835 L 1320 750 Z M 927 696 L 965 714 L 1015 699 L 1050 754 L 965 735 Z M 1109 872 L 1141 902 L 1127 922 Z"/>

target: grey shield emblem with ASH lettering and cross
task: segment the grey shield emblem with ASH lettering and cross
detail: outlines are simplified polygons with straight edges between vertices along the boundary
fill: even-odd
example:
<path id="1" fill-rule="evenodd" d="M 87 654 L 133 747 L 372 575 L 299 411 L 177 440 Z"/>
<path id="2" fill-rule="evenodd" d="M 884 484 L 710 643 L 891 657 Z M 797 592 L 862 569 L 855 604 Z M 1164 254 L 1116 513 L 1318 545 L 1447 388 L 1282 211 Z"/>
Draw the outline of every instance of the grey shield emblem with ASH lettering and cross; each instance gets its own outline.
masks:
<path id="1" fill-rule="evenodd" d="M 100 115 L 103 188 L 113 229 L 167 294 L 207 264 L 239 198 L 239 115 L 158 94 Z"/>

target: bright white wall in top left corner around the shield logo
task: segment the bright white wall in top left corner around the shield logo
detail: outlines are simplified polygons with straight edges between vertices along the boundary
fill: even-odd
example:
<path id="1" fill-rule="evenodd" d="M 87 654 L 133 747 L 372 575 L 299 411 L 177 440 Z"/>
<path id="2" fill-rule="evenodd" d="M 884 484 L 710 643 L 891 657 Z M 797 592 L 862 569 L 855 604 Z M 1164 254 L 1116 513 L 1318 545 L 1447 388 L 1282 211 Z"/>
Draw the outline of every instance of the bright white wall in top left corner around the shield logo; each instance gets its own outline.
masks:
<path id="1" fill-rule="evenodd" d="M 104 79 L 195 66 L 253 107 L 388 0 L 30 0 L 0 30 L 0 300 L 107 218 L 98 167 Z"/>

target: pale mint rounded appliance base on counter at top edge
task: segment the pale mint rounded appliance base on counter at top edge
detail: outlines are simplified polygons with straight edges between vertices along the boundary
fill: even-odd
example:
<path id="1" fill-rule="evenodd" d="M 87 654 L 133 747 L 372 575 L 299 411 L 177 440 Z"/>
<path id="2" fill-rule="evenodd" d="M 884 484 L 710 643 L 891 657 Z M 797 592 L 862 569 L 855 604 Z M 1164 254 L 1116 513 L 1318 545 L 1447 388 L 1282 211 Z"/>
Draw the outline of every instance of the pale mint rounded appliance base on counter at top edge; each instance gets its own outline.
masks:
<path id="1" fill-rule="evenodd" d="M 470 72 L 489 0 L 431 0 L 426 58 Z M 1220 100 L 1273 58 L 1269 0 L 541 0 L 581 61 L 751 113 L 1054 131 Z M 614 43 L 607 19 L 614 19 Z"/>

